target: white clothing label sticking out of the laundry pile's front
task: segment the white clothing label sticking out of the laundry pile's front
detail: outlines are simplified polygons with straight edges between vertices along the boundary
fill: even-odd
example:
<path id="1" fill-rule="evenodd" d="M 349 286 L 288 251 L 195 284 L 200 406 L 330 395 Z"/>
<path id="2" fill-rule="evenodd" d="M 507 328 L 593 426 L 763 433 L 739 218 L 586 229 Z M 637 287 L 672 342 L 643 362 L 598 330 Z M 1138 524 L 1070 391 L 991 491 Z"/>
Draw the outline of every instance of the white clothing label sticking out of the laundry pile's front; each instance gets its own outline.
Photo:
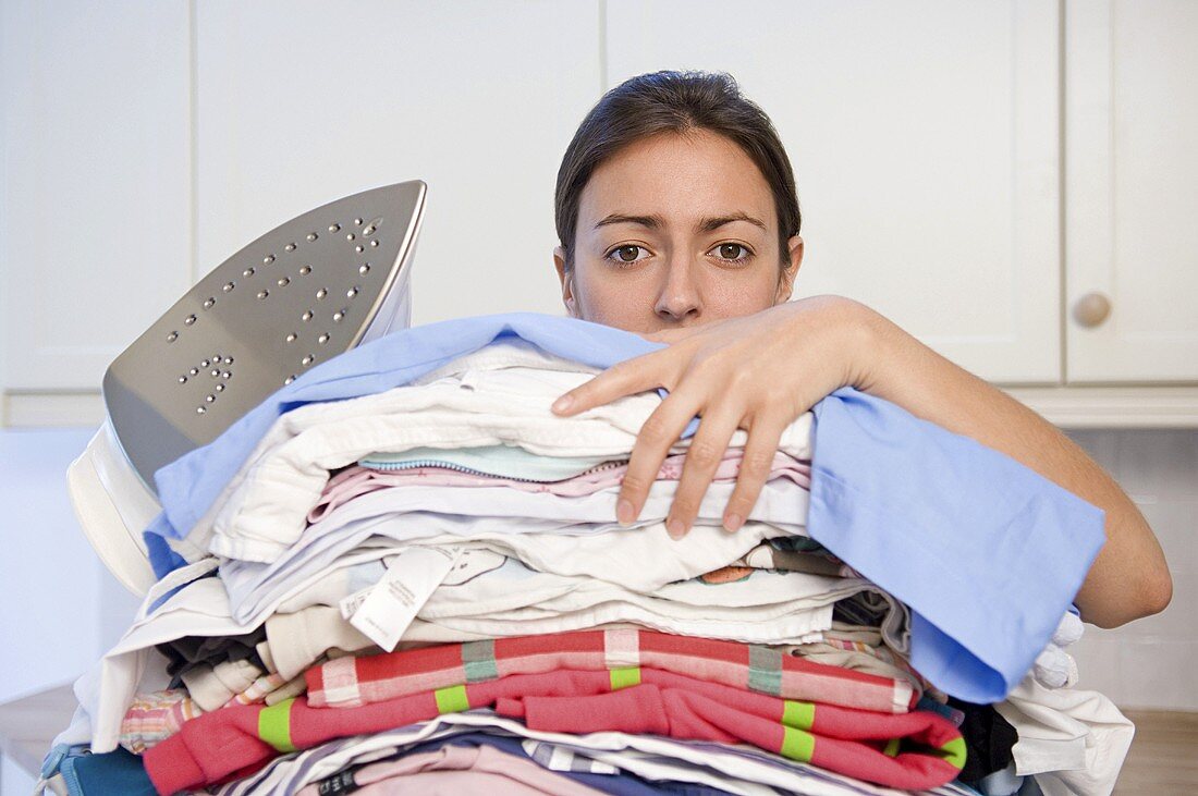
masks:
<path id="1" fill-rule="evenodd" d="M 460 552 L 458 547 L 409 547 L 387 565 L 376 585 L 341 600 L 341 615 L 349 613 L 351 625 L 382 649 L 393 651 L 416 619 L 416 612 L 449 575 Z"/>

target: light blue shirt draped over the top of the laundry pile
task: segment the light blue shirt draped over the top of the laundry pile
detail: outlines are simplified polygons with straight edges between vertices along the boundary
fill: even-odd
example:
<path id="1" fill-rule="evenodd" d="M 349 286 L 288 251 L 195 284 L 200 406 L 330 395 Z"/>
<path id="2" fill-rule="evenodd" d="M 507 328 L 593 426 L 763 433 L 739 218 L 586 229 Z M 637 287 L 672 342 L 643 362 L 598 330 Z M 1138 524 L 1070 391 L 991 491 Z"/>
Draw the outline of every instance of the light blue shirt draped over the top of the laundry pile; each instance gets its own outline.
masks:
<path id="1" fill-rule="evenodd" d="M 158 470 L 146 531 L 159 573 L 283 414 L 382 393 L 504 338 L 595 367 L 660 344 L 585 321 L 516 314 L 406 329 L 314 367 L 211 444 Z M 810 535 L 912 608 L 912 662 L 943 691 L 992 703 L 1030 669 L 1102 546 L 1103 515 L 1014 460 L 841 389 L 817 405 Z M 691 423 L 686 436 L 694 432 Z"/>

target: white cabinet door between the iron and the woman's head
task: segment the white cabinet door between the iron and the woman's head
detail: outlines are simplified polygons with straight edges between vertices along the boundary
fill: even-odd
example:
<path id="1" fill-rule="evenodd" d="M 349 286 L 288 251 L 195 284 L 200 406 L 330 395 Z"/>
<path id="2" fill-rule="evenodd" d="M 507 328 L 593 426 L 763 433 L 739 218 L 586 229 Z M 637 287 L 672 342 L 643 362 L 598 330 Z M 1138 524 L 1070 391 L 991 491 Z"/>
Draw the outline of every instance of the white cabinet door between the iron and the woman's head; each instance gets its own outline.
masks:
<path id="1" fill-rule="evenodd" d="M 598 0 L 206 0 L 195 16 L 201 267 L 422 178 L 415 323 L 563 312 L 553 183 L 601 91 Z"/>

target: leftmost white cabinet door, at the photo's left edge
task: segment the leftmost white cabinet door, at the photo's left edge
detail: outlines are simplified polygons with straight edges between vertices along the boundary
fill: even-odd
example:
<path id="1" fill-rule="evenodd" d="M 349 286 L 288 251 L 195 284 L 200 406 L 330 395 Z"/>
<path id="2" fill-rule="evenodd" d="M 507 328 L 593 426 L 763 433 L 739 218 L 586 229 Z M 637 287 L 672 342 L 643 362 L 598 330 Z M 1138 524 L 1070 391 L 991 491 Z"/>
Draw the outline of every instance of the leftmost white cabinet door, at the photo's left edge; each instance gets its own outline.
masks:
<path id="1" fill-rule="evenodd" d="M 98 390 L 189 284 L 187 6 L 0 2 L 0 388 Z"/>

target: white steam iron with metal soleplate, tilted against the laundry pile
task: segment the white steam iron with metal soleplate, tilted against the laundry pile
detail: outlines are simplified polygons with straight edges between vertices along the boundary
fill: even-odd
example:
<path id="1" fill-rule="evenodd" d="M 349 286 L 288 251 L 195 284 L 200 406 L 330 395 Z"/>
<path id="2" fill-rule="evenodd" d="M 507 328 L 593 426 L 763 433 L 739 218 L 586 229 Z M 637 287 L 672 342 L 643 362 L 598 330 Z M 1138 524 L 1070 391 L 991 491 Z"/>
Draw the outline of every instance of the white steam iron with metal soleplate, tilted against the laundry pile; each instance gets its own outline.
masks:
<path id="1" fill-rule="evenodd" d="M 155 472 L 216 439 L 304 370 L 411 323 L 422 181 L 304 213 L 214 268 L 108 367 L 107 419 L 67 470 L 84 533 L 134 594 Z"/>

